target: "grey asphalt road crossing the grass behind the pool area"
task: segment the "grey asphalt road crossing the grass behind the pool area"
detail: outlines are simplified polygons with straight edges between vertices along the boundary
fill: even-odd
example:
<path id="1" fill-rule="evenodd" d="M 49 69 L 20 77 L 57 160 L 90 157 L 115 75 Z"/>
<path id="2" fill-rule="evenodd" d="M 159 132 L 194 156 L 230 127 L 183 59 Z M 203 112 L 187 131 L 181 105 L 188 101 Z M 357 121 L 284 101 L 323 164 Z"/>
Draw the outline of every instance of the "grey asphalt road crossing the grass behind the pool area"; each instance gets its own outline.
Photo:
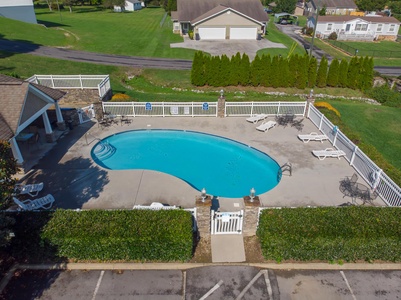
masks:
<path id="1" fill-rule="evenodd" d="M 290 26 L 282 26 L 283 32 L 288 34 L 300 45 L 307 44 L 298 34 L 294 33 L 294 29 Z M 313 47 L 315 55 L 320 59 L 324 52 L 318 49 L 316 46 Z M 148 68 L 148 69 L 168 69 L 168 70 L 190 70 L 192 68 L 192 61 L 185 59 L 167 59 L 167 58 L 147 58 L 137 56 L 124 56 L 124 55 L 112 55 L 112 54 L 101 54 L 94 52 L 68 50 L 62 48 L 54 48 L 47 46 L 40 46 L 37 44 L 15 42 L 9 40 L 0 39 L 0 50 L 12 52 L 12 53 L 26 53 L 38 56 L 46 56 L 58 59 L 65 59 L 71 61 L 113 65 L 113 66 L 125 66 L 125 67 L 137 67 L 137 68 Z M 329 60 L 332 59 L 328 57 Z M 401 67 L 380 67 L 374 68 L 377 72 L 387 76 L 400 76 Z"/>

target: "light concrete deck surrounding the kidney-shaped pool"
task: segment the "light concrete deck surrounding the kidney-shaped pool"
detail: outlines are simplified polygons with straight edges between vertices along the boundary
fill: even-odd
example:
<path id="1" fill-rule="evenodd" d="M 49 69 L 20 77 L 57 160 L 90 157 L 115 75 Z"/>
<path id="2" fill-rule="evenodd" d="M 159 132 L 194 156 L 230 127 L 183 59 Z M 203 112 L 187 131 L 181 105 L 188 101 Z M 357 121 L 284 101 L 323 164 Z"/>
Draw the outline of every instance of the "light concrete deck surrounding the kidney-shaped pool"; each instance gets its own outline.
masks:
<path id="1" fill-rule="evenodd" d="M 311 141 L 305 144 L 297 138 L 300 132 L 291 126 L 276 126 L 268 132 L 260 132 L 255 129 L 255 124 L 246 122 L 245 119 L 137 117 L 131 124 L 116 124 L 105 129 L 89 122 L 74 128 L 58 140 L 57 145 L 23 180 L 27 183 L 44 182 L 45 188 L 41 195 L 53 194 L 56 208 L 131 209 L 134 205 L 149 205 L 152 202 L 194 207 L 195 197 L 200 192 L 178 178 L 156 171 L 106 170 L 99 167 L 90 156 L 97 138 L 102 139 L 117 132 L 181 129 L 215 134 L 242 142 L 269 154 L 280 166 L 290 162 L 292 176 L 285 172 L 278 186 L 259 195 L 262 206 L 337 206 L 351 202 L 349 197 L 343 198 L 339 181 L 351 176 L 354 169 L 344 158 L 326 158 L 321 161 L 311 153 L 312 150 L 331 147 L 329 142 Z M 303 134 L 318 131 L 309 120 L 305 119 L 303 123 Z M 357 200 L 357 203 L 361 204 L 361 201 Z M 378 198 L 374 204 L 380 206 L 384 202 Z M 220 197 L 219 205 L 220 211 L 237 211 L 244 207 L 242 198 Z"/>

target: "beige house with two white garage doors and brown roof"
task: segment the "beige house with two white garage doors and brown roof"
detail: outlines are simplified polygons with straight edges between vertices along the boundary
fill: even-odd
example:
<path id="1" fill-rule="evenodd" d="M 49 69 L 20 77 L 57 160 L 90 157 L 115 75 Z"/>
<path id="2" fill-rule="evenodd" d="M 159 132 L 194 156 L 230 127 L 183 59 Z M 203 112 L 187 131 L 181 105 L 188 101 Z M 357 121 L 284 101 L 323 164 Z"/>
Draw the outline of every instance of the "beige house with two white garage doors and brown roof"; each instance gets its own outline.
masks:
<path id="1" fill-rule="evenodd" d="M 177 0 L 173 32 L 197 40 L 256 40 L 269 20 L 260 0 Z"/>

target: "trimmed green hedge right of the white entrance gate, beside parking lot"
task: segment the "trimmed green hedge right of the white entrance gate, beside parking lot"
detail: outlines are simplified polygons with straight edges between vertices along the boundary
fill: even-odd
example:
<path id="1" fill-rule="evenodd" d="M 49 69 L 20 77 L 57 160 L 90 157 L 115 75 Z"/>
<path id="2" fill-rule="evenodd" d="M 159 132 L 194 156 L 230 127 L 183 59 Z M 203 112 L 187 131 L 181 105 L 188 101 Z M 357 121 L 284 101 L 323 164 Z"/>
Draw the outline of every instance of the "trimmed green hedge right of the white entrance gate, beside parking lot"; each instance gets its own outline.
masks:
<path id="1" fill-rule="evenodd" d="M 401 261 L 401 209 L 265 209 L 257 235 L 265 259 Z"/>

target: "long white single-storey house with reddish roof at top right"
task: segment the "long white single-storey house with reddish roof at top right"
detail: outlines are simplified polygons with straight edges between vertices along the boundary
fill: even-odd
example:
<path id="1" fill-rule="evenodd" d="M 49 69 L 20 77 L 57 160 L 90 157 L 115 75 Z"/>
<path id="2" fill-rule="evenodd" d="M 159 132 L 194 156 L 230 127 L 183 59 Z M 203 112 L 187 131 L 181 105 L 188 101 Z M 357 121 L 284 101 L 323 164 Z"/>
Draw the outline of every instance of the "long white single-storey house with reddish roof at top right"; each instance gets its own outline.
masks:
<path id="1" fill-rule="evenodd" d="M 307 27 L 315 27 L 315 18 L 308 18 Z M 395 41 L 400 21 L 394 17 L 319 16 L 316 37 L 328 38 L 335 32 L 343 41 Z"/>

